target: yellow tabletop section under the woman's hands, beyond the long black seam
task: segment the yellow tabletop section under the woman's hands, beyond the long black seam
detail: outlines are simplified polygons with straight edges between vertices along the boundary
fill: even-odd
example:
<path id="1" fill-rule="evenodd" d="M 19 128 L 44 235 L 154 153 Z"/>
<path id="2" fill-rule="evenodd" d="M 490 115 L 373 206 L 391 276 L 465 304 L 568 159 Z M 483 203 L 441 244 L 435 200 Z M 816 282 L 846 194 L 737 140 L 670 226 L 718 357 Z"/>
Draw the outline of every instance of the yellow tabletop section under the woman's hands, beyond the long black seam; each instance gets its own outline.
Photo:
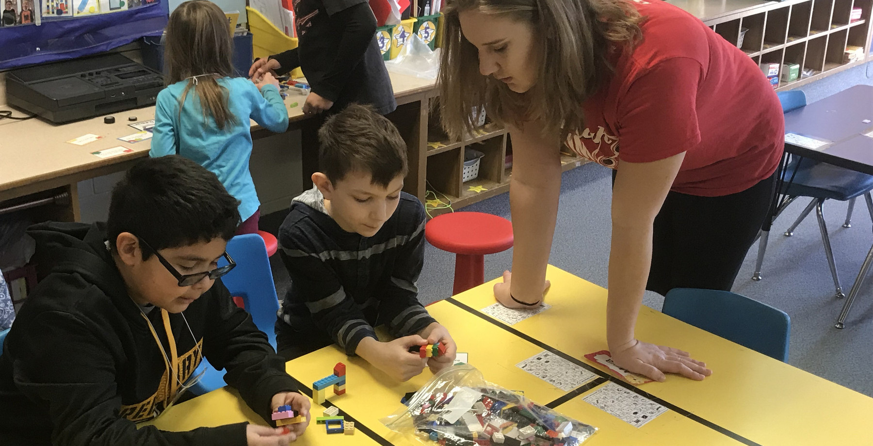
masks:
<path id="1" fill-rule="evenodd" d="M 551 265 L 546 277 L 552 281 L 546 294 L 546 303 L 552 308 L 513 326 L 498 325 L 579 360 L 585 354 L 607 349 L 606 289 Z M 492 283 L 450 300 L 475 310 L 485 308 L 494 303 Z M 669 376 L 663 383 L 650 382 L 640 387 L 705 421 L 768 446 L 820 445 L 832 443 L 835 438 L 846 444 L 873 444 L 869 428 L 873 398 L 645 306 L 636 334 L 649 342 L 689 351 L 712 369 L 705 381 Z M 582 421 L 588 422 L 588 418 Z M 590 422 L 599 426 L 594 419 Z"/>

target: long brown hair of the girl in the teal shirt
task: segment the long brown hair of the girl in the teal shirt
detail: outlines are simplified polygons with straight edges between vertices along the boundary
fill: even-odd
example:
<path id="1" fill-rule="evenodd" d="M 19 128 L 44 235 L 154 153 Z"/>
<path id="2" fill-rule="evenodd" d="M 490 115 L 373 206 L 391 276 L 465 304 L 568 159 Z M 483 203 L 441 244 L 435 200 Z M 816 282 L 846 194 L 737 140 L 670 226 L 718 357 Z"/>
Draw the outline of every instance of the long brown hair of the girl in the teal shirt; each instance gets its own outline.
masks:
<path id="1" fill-rule="evenodd" d="M 227 17 L 215 3 L 191 0 L 173 11 L 167 24 L 164 70 L 168 85 L 188 79 L 179 98 L 180 113 L 193 88 L 203 108 L 203 120 L 212 116 L 219 129 L 237 122 L 228 106 L 229 93 L 217 82 L 233 71 L 232 54 Z"/>

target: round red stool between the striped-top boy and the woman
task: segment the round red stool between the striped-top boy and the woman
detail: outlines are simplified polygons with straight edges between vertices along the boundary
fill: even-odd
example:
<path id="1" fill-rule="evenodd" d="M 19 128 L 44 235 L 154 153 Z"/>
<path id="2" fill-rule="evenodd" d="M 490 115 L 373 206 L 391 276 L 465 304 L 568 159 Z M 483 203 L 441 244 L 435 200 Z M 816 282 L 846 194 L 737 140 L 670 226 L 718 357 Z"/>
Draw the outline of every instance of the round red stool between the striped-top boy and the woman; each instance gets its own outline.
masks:
<path id="1" fill-rule="evenodd" d="M 432 218 L 424 227 L 424 237 L 457 254 L 454 295 L 485 283 L 485 254 L 512 248 L 512 223 L 482 212 L 452 212 Z"/>

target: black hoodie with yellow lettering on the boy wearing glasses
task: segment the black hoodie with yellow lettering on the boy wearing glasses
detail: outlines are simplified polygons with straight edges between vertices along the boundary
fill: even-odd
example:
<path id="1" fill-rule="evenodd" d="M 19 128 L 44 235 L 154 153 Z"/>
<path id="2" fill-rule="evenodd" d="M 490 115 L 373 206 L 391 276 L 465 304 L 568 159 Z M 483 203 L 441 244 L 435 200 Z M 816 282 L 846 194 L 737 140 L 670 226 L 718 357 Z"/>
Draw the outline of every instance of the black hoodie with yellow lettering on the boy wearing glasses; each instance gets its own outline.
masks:
<path id="1" fill-rule="evenodd" d="M 136 429 L 134 422 L 168 404 L 168 387 L 189 378 L 201 351 L 214 367 L 227 369 L 224 380 L 265 420 L 273 395 L 296 390 L 285 360 L 220 280 L 189 305 L 184 319 L 143 308 L 153 333 L 107 250 L 104 225 L 41 223 L 29 234 L 37 240 L 40 275 L 47 276 L 3 344 L 3 446 L 244 445 L 245 423 L 189 432 Z M 178 381 L 168 380 L 168 361 L 155 340 L 172 355 L 164 314 L 179 358 Z"/>

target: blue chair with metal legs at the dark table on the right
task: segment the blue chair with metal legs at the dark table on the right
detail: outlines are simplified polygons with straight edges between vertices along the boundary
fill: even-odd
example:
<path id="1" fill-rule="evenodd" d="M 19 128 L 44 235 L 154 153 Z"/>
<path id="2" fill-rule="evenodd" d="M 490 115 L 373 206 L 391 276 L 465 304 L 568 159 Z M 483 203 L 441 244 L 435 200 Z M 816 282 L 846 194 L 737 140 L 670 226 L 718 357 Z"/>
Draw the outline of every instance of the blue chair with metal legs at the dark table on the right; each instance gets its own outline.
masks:
<path id="1" fill-rule="evenodd" d="M 807 105 L 806 95 L 799 90 L 778 94 L 780 102 L 782 103 L 782 111 L 785 113 Z M 780 205 L 779 209 L 776 210 L 776 216 L 779 216 L 789 204 L 794 202 L 794 200 L 800 196 L 808 196 L 813 199 L 809 202 L 806 209 L 803 209 L 803 212 L 801 212 L 801 215 L 794 221 L 794 224 L 785 231 L 785 236 L 793 236 L 794 230 L 797 226 L 801 224 L 803 219 L 806 218 L 813 209 L 816 209 L 815 216 L 818 218 L 819 230 L 821 231 L 821 242 L 824 244 L 825 256 L 828 257 L 830 273 L 834 278 L 836 289 L 835 296 L 837 298 L 844 298 L 845 294 L 842 292 L 840 277 L 836 271 L 834 251 L 830 246 L 828 226 L 824 222 L 822 207 L 826 200 L 838 200 L 841 202 L 849 201 L 849 210 L 846 214 L 846 221 L 842 224 L 842 227 L 850 228 L 852 209 L 855 207 L 855 198 L 863 195 L 867 202 L 867 209 L 870 212 L 870 219 L 873 220 L 873 198 L 870 197 L 870 189 L 873 189 L 873 176 L 862 174 L 847 168 L 839 168 L 825 162 L 812 161 L 793 156 L 792 159 L 788 161 L 787 168 L 782 174 L 782 181 L 783 183 L 780 193 L 787 196 L 788 199 Z M 755 264 L 755 271 L 752 276 L 753 280 L 761 279 L 761 265 L 764 263 L 764 253 L 766 251 L 768 237 L 769 231 L 761 230 L 760 241 L 758 244 L 758 260 Z"/>

